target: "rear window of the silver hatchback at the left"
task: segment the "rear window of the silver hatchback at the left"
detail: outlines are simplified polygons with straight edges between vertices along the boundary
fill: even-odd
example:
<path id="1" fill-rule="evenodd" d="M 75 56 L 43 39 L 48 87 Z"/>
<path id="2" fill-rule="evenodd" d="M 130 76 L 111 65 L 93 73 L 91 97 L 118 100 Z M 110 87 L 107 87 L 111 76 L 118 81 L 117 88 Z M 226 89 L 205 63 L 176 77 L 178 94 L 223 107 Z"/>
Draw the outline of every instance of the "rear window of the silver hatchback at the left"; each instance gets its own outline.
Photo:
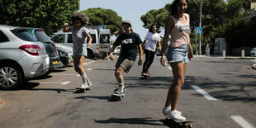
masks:
<path id="1" fill-rule="evenodd" d="M 30 33 L 23 29 L 14 29 L 12 30 L 12 33 L 15 36 L 19 37 L 21 40 L 37 41 L 37 39 L 34 36 L 32 36 Z"/>

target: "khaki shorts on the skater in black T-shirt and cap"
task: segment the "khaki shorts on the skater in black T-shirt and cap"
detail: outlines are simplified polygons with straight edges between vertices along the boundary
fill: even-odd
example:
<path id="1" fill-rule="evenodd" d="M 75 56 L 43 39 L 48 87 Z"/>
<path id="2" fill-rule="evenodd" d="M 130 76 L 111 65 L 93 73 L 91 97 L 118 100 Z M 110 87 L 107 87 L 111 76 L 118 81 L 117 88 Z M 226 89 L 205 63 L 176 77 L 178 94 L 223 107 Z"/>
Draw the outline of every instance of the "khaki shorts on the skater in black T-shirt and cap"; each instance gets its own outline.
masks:
<path id="1" fill-rule="evenodd" d="M 135 61 L 125 59 L 123 57 L 119 57 L 116 61 L 116 68 L 122 67 L 123 69 L 126 70 L 126 73 L 128 73 L 132 67 L 132 65 L 135 64 Z"/>

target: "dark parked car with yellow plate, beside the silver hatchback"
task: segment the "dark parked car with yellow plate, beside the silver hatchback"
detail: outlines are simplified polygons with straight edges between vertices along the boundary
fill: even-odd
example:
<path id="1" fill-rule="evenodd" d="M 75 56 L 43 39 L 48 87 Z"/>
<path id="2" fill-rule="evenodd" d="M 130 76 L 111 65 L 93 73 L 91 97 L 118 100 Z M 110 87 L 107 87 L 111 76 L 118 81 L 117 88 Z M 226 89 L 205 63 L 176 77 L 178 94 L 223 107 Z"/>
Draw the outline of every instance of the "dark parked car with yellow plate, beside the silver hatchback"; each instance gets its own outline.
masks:
<path id="1" fill-rule="evenodd" d="M 45 31 L 40 28 L 24 27 L 32 36 L 40 40 L 46 48 L 46 53 L 50 57 L 50 67 L 49 72 L 58 68 L 59 66 L 59 55 L 56 50 L 55 44 L 50 40 L 50 38 L 45 34 Z"/>

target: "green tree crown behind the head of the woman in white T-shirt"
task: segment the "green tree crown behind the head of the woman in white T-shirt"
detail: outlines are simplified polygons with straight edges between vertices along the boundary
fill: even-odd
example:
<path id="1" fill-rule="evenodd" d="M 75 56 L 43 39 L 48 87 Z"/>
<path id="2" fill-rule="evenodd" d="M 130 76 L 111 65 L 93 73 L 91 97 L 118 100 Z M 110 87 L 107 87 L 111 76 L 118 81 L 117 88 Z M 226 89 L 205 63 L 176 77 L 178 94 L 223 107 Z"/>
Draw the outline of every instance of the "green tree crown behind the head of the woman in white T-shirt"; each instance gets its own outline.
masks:
<path id="1" fill-rule="evenodd" d="M 146 14 L 140 17 L 140 20 L 143 21 L 143 27 L 149 28 L 152 24 L 156 24 L 159 28 L 164 27 L 165 20 L 168 17 L 168 11 L 163 7 L 159 10 L 150 10 Z M 159 31 L 161 32 L 161 31 Z"/>

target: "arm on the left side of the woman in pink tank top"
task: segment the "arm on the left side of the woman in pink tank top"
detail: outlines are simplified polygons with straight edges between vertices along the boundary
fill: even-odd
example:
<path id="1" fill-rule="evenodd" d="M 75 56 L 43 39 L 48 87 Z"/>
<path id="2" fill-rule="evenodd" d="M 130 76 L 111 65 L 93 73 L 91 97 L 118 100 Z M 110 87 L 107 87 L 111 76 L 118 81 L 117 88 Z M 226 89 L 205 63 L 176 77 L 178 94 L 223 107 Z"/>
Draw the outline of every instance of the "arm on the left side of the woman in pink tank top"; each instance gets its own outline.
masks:
<path id="1" fill-rule="evenodd" d="M 171 30 L 173 29 L 174 26 L 174 21 L 172 17 L 168 17 L 168 20 L 165 22 L 165 31 L 164 31 L 164 40 L 163 40 L 163 45 L 162 45 L 162 57 L 161 57 L 161 64 L 162 66 L 165 66 L 165 50 L 167 47 L 167 42 L 169 35 L 171 33 Z"/>

